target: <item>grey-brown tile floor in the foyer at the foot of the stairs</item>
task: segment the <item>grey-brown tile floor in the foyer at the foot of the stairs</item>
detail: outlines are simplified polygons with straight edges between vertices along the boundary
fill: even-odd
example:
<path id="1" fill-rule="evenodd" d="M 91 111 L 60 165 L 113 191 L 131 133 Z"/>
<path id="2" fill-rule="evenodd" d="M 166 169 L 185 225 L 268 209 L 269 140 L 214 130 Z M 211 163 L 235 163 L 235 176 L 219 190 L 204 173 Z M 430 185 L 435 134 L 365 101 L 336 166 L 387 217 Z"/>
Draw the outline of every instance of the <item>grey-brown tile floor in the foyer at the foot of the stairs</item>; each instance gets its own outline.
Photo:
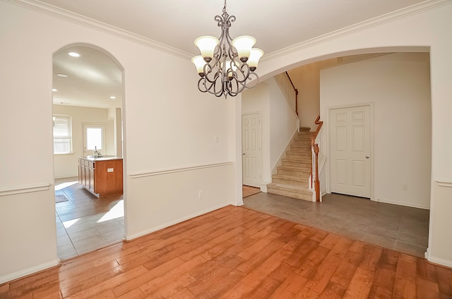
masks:
<path id="1" fill-rule="evenodd" d="M 330 194 L 307 202 L 270 193 L 244 198 L 244 207 L 338 233 L 364 242 L 424 257 L 429 210 Z"/>

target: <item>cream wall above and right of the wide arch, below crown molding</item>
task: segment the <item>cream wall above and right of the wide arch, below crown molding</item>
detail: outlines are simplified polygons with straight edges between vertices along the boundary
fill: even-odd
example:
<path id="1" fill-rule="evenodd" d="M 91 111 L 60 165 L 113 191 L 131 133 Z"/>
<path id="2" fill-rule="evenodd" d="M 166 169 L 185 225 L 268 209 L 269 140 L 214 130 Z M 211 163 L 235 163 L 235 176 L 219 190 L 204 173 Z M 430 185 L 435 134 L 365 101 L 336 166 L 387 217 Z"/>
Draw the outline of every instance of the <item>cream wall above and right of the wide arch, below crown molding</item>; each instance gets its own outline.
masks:
<path id="1" fill-rule="evenodd" d="M 314 61 L 338 56 L 391 51 L 429 51 L 432 89 L 432 192 L 428 259 L 452 267 L 450 249 L 452 217 L 450 187 L 436 180 L 452 182 L 452 1 L 426 1 L 406 11 L 360 23 L 329 35 L 311 39 L 263 57 L 260 78 Z M 238 116 L 237 116 L 238 117 Z M 325 116 L 321 116 L 325 120 Z M 446 197 L 449 194 L 449 197 Z M 440 216 L 443 215 L 443 216 Z"/>

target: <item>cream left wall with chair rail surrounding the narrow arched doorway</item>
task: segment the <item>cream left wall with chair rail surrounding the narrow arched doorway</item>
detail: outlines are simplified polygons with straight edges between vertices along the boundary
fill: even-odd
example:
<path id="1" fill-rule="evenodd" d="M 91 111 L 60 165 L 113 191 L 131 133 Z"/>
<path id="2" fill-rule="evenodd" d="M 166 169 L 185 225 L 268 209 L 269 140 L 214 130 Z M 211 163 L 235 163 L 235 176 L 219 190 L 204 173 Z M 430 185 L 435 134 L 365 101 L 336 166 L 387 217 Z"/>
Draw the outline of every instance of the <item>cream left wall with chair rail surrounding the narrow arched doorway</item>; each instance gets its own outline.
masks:
<path id="1" fill-rule="evenodd" d="M 1 87 L 0 102 L 0 238 L 6 240 L 0 246 L 0 283 L 58 263 L 52 56 L 69 44 L 100 47 L 124 69 L 128 238 L 242 201 L 235 183 L 235 165 L 241 162 L 231 154 L 237 142 L 230 129 L 237 128 L 234 114 L 239 109 L 233 101 L 198 92 L 189 57 L 26 5 L 0 1 L 0 82 L 8 83 Z M 33 126 L 5 129 L 18 118 Z M 203 200 L 198 200 L 198 190 L 203 190 Z"/>

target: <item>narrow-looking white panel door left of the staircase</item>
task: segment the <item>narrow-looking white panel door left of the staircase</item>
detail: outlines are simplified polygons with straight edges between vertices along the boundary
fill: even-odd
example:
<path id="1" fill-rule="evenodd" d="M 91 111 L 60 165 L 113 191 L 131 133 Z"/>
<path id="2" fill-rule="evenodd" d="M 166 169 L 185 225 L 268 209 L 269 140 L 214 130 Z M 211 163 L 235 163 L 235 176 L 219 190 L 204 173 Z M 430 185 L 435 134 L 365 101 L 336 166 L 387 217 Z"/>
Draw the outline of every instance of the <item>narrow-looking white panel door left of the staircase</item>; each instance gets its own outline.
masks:
<path id="1" fill-rule="evenodd" d="M 242 180 L 261 188 L 261 115 L 242 115 Z"/>

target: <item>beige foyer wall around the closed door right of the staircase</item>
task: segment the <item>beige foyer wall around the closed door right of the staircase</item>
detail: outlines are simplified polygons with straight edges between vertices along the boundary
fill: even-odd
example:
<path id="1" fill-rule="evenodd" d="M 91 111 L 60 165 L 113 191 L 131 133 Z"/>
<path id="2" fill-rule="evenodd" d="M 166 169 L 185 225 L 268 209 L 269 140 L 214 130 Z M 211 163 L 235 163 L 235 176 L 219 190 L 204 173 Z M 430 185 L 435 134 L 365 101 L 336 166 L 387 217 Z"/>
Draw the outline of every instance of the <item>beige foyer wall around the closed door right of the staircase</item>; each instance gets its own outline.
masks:
<path id="1" fill-rule="evenodd" d="M 374 104 L 373 200 L 430 207 L 429 68 L 428 53 L 396 53 L 320 72 L 321 115 L 328 116 L 333 107 Z M 328 117 L 323 126 L 328 128 Z"/>

